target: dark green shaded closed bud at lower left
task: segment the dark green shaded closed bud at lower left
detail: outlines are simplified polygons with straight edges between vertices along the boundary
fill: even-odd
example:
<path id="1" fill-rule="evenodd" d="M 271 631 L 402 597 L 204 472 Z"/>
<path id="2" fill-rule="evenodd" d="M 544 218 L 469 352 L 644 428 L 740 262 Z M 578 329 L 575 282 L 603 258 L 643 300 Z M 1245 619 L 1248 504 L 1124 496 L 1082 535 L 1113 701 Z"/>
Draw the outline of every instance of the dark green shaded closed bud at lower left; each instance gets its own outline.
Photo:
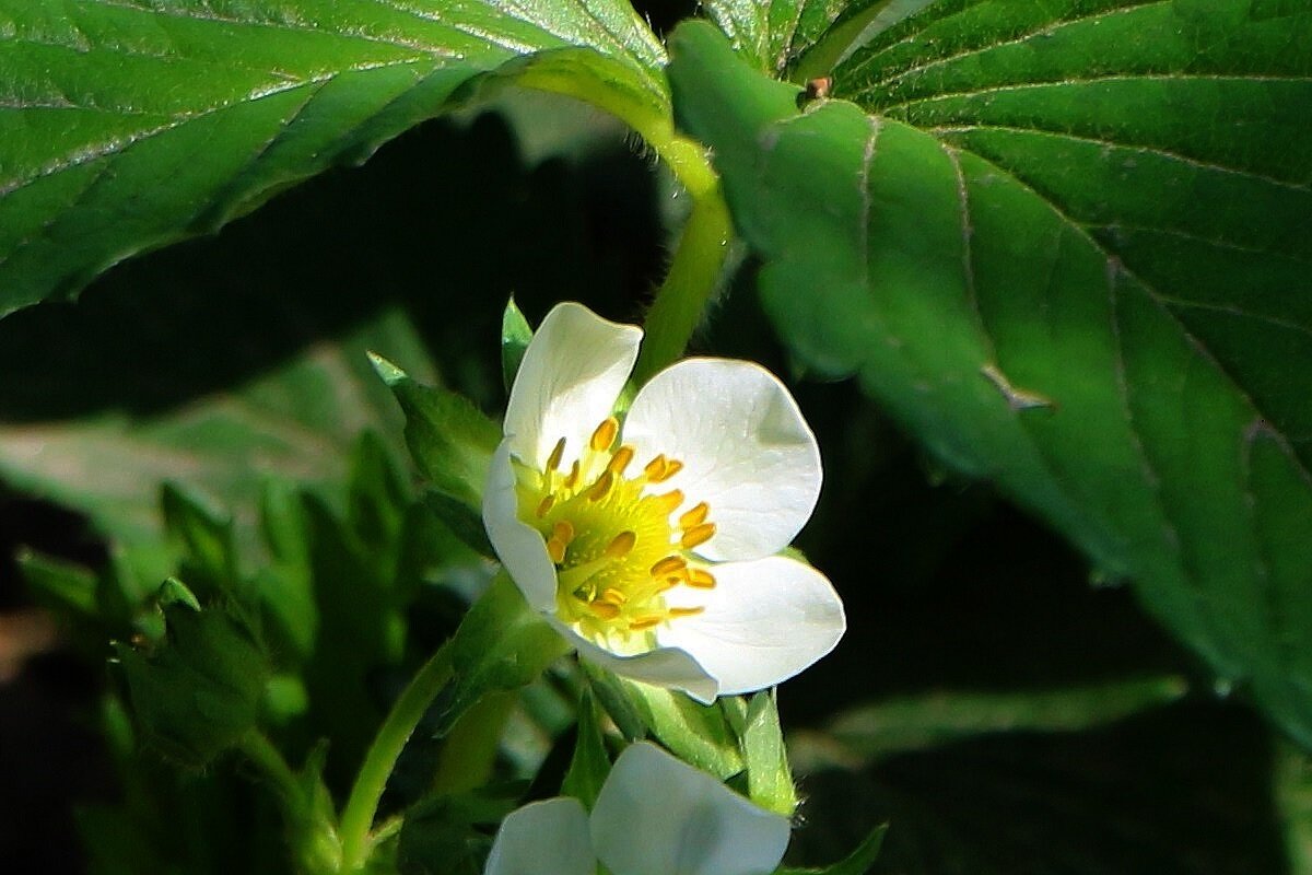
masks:
<path id="1" fill-rule="evenodd" d="M 118 660 L 143 740 L 178 763 L 201 769 L 235 746 L 260 716 L 268 659 L 236 614 L 201 607 L 180 581 L 160 592 L 165 636 Z"/>

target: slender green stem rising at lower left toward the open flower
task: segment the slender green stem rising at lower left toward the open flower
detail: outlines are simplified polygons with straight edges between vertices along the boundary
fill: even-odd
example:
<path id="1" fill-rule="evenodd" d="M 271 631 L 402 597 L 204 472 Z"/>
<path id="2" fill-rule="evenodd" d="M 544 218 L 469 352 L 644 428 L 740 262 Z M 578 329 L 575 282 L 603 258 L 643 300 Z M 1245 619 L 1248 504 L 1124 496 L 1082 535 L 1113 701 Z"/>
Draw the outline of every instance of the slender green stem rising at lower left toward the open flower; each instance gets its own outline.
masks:
<path id="1" fill-rule="evenodd" d="M 383 720 L 341 813 L 341 871 L 353 872 L 369 857 L 369 830 L 387 779 L 424 712 L 451 678 L 450 644 L 443 644 L 411 680 Z"/>

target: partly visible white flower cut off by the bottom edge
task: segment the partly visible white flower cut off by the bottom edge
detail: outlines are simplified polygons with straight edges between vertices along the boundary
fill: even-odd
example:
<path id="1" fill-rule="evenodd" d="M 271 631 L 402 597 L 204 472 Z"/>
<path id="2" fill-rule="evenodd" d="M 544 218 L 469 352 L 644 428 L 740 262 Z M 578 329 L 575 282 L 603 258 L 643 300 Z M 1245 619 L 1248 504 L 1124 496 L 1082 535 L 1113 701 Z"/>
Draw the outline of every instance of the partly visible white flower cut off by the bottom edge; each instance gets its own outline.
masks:
<path id="1" fill-rule="evenodd" d="M 484 875 L 766 875 L 789 846 L 789 821 L 710 775 L 639 743 L 615 761 L 592 817 L 560 796 L 514 811 Z"/>

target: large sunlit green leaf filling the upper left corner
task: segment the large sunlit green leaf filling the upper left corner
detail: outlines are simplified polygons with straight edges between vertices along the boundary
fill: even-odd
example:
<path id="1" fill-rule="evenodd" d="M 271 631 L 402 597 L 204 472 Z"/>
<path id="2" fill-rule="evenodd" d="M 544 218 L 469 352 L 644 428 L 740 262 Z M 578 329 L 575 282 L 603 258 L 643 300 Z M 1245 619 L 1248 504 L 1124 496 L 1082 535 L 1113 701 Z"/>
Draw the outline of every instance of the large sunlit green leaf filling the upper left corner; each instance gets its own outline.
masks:
<path id="1" fill-rule="evenodd" d="M 0 30 L 0 315 L 359 163 L 525 54 L 589 50 L 602 77 L 568 89 L 666 106 L 618 0 L 4 0 Z"/>

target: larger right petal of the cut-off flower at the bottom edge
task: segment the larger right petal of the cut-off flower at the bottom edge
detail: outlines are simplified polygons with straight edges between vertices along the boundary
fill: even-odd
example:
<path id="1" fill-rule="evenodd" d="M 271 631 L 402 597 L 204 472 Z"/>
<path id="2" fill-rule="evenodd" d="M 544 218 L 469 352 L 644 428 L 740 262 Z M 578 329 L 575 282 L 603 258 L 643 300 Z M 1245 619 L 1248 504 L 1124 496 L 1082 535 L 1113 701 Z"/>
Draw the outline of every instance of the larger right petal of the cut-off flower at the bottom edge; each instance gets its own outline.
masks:
<path id="1" fill-rule="evenodd" d="M 601 787 L 592 841 L 614 875 L 766 875 L 789 846 L 789 821 L 640 743 Z"/>

